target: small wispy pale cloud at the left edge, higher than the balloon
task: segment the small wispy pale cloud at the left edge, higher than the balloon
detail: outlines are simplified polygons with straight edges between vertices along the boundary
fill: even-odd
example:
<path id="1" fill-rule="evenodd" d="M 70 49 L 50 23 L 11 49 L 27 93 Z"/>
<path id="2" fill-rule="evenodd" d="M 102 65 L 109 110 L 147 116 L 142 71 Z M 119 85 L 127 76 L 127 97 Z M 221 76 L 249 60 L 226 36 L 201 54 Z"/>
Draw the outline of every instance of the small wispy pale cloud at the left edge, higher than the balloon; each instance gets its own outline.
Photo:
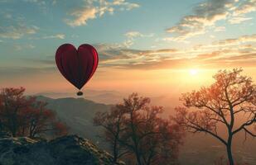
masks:
<path id="1" fill-rule="evenodd" d="M 22 38 L 24 35 L 35 34 L 39 30 L 37 26 L 0 26 L 0 38 L 17 40 Z"/>

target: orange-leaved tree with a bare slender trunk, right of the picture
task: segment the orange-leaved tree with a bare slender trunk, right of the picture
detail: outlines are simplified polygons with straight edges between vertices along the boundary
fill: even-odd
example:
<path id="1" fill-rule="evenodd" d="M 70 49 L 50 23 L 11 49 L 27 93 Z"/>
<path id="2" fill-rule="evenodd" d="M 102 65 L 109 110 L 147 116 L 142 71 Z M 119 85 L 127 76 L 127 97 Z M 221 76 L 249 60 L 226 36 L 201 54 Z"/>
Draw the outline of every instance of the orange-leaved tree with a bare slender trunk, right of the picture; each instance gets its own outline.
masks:
<path id="1" fill-rule="evenodd" d="M 256 124 L 256 86 L 251 78 L 242 76 L 242 69 L 220 70 L 210 87 L 185 93 L 181 97 L 185 107 L 177 107 L 176 122 L 193 133 L 205 132 L 225 145 L 229 164 L 234 165 L 232 140 L 244 131 L 256 137 L 252 126 Z M 191 108 L 196 108 L 193 110 Z M 246 117 L 242 117 L 243 114 Z M 227 136 L 218 134 L 220 125 Z"/>

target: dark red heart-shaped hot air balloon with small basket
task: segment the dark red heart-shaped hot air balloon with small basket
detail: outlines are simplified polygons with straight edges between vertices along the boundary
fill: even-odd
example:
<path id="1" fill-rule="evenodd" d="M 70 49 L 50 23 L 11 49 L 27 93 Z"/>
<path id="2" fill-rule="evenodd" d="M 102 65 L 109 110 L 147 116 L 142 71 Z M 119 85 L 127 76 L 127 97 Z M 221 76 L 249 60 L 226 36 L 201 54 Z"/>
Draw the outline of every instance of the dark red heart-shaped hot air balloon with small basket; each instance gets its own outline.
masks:
<path id="1" fill-rule="evenodd" d="M 98 53 L 92 45 L 80 45 L 76 50 L 74 45 L 64 44 L 56 50 L 60 73 L 79 90 L 92 78 L 98 62 Z M 77 95 L 81 96 L 83 92 L 79 91 Z"/>

